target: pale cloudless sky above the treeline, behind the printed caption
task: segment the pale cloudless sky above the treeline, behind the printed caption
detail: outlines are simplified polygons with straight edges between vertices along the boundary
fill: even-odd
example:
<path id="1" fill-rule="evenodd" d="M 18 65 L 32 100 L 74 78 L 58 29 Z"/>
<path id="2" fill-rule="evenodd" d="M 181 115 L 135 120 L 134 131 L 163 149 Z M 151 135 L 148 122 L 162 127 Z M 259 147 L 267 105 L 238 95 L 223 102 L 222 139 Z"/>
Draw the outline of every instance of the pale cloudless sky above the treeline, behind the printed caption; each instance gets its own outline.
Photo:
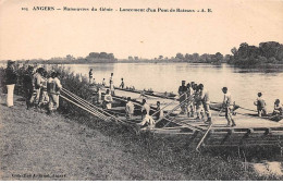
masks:
<path id="1" fill-rule="evenodd" d="M 114 11 L 33 11 L 37 5 Z M 133 13 L 120 8 L 211 9 L 212 13 Z M 262 41 L 283 44 L 283 0 L 0 0 L 0 60 L 102 51 L 119 59 L 226 54 L 241 42 Z"/>

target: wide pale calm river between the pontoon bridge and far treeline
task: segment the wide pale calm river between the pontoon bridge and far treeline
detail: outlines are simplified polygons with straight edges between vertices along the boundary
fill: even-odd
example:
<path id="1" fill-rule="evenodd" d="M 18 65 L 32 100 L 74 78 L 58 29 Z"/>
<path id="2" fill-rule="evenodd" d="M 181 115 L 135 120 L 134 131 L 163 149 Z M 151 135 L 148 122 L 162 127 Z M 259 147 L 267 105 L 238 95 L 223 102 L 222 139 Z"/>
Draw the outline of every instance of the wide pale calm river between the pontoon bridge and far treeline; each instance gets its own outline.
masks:
<path id="1" fill-rule="evenodd" d="M 283 71 L 247 70 L 227 64 L 193 64 L 193 63 L 95 63 L 67 64 L 75 73 L 88 76 L 93 69 L 97 83 L 106 78 L 107 84 L 111 73 L 114 73 L 114 85 L 119 86 L 121 77 L 125 86 L 136 89 L 152 88 L 155 91 L 177 93 L 181 81 L 202 83 L 210 93 L 211 101 L 222 101 L 221 88 L 226 86 L 237 105 L 256 109 L 254 101 L 261 91 L 272 111 L 276 98 L 283 103 Z"/>

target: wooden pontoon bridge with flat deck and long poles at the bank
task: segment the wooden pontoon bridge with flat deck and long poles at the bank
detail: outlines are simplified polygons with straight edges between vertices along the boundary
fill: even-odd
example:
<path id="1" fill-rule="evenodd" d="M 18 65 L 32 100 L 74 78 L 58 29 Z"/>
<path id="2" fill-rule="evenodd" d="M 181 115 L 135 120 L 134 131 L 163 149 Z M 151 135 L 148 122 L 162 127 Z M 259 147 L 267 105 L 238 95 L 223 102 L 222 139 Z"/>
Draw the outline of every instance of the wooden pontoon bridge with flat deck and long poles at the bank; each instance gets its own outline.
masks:
<path id="1" fill-rule="evenodd" d="M 67 93 L 64 94 L 67 96 Z M 70 94 L 69 94 L 70 96 Z M 79 102 L 89 113 L 96 116 L 102 116 L 102 120 L 114 120 L 121 122 L 128 127 L 137 127 L 135 124 L 140 122 L 140 102 L 143 98 L 147 98 L 151 106 L 150 114 L 155 114 L 156 101 L 161 101 L 162 107 L 165 107 L 164 116 L 156 120 L 156 127 L 145 127 L 139 130 L 140 133 L 152 133 L 155 136 L 162 136 L 162 138 L 174 139 L 182 142 L 186 146 L 193 146 L 197 150 L 201 147 L 217 147 L 217 146 L 259 146 L 270 145 L 283 147 L 283 121 L 271 121 L 266 118 L 258 118 L 250 113 L 237 112 L 234 116 L 236 126 L 226 126 L 226 119 L 220 115 L 219 110 L 221 103 L 212 103 L 212 125 L 206 124 L 205 120 L 196 120 L 182 114 L 180 110 L 180 101 L 176 99 L 168 99 L 163 96 L 148 95 L 149 97 L 140 97 L 138 90 L 118 89 L 113 99 L 115 103 L 110 111 L 103 109 L 96 110 L 90 108 L 94 105 L 84 105 L 87 102 Z M 125 99 L 131 97 L 136 106 L 134 118 L 127 120 L 125 118 Z M 66 97 L 64 97 L 66 98 Z M 71 97 L 70 97 L 71 98 Z M 73 98 L 71 98 L 72 100 Z M 81 99 L 82 100 L 82 99 Z M 188 99 L 189 100 L 189 99 Z M 88 102 L 89 103 L 89 102 Z M 170 105 L 170 106 L 169 106 Z M 161 108 L 162 108 L 161 107 Z M 235 106 L 235 110 L 239 110 L 239 106 Z M 99 113 L 101 114 L 97 114 Z M 108 113 L 108 114 L 107 114 Z M 114 118 L 113 118 L 114 116 Z M 155 115 L 153 115 L 155 118 Z"/>

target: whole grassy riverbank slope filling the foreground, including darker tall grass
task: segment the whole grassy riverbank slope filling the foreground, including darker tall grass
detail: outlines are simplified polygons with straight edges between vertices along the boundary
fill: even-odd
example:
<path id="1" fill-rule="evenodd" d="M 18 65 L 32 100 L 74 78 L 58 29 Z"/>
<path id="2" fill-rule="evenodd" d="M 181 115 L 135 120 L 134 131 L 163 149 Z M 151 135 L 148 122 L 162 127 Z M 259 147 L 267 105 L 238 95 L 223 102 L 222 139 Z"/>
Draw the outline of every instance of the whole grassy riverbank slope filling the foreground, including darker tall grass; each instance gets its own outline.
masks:
<path id="1" fill-rule="evenodd" d="M 282 180 L 229 151 L 198 154 L 87 114 L 49 116 L 26 110 L 19 96 L 13 108 L 0 99 L 1 180 Z"/>

